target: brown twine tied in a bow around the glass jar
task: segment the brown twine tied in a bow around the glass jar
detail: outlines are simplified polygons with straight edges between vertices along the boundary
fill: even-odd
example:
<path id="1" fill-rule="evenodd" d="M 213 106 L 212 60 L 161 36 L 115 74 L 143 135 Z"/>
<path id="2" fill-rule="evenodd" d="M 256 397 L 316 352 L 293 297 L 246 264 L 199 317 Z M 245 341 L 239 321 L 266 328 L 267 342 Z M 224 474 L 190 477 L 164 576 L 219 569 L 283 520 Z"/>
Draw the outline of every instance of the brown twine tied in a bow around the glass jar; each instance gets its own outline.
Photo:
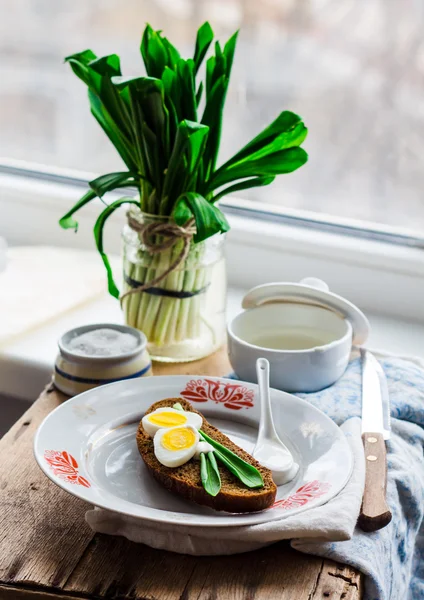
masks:
<path id="1" fill-rule="evenodd" d="M 163 271 L 163 273 L 161 273 L 151 281 L 148 281 L 147 283 L 141 284 L 137 287 L 127 290 L 126 292 L 121 294 L 121 306 L 124 298 L 126 298 L 127 296 L 143 292 L 145 290 L 148 290 L 149 288 L 152 288 L 157 283 L 165 279 L 165 277 L 172 273 L 172 271 L 175 271 L 175 269 L 177 269 L 179 265 L 182 262 L 184 262 L 184 260 L 187 258 L 188 253 L 190 251 L 191 240 L 193 239 L 193 236 L 196 233 L 194 219 L 190 219 L 186 223 L 186 225 L 184 225 L 184 227 L 177 225 L 176 223 L 170 223 L 169 221 L 163 223 L 158 222 L 146 224 L 141 223 L 136 217 L 134 217 L 134 215 L 131 212 L 128 212 L 127 220 L 128 225 L 131 227 L 131 229 L 133 231 L 136 231 L 140 235 L 142 243 L 144 244 L 144 246 L 150 254 L 156 255 L 160 254 L 164 250 L 169 250 L 170 248 L 175 246 L 175 244 L 179 240 L 183 240 L 184 243 L 180 254 L 177 256 L 175 261 L 172 264 L 170 264 L 169 267 L 165 269 L 165 271 Z M 165 239 L 160 243 L 156 243 L 156 241 L 153 241 L 153 236 L 155 235 L 161 235 Z"/>

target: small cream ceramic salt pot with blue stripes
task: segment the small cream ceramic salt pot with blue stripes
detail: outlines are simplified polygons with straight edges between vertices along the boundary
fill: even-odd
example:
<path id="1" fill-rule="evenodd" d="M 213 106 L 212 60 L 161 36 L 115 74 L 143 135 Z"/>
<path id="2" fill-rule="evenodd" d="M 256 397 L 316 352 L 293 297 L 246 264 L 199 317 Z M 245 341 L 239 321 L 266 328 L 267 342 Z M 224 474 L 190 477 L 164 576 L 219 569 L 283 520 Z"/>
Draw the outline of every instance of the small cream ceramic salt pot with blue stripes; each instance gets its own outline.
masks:
<path id="1" fill-rule="evenodd" d="M 82 333 L 96 329 L 115 329 L 130 333 L 137 339 L 137 346 L 126 353 L 112 356 L 83 356 L 69 348 L 69 341 Z M 122 379 L 135 379 L 152 374 L 150 356 L 146 350 L 144 333 L 127 325 L 95 324 L 67 331 L 59 340 L 53 383 L 68 396 L 75 396 L 99 385 Z"/>

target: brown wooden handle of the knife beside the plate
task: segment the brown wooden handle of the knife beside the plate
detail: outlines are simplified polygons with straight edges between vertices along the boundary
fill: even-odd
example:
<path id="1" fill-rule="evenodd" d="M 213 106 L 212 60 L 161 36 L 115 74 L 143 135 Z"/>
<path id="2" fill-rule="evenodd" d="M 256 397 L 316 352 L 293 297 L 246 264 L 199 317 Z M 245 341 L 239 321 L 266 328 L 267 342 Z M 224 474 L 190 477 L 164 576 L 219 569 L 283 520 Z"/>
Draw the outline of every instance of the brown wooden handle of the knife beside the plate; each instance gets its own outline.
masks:
<path id="1" fill-rule="evenodd" d="M 377 531 L 392 520 L 386 503 L 386 444 L 381 433 L 364 433 L 365 489 L 358 525 L 363 531 Z"/>

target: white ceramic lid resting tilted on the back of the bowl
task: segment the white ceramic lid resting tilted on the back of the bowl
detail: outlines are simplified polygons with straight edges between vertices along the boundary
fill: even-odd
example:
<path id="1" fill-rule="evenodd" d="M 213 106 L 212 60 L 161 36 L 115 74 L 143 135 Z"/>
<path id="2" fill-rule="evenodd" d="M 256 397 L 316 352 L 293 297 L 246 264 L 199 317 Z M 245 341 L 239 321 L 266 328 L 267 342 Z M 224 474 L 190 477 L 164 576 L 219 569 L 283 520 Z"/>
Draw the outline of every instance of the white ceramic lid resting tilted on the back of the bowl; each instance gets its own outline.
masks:
<path id="1" fill-rule="evenodd" d="M 310 304 L 338 313 L 350 321 L 353 329 L 352 343 L 356 346 L 364 344 L 370 332 L 370 324 L 364 313 L 349 300 L 330 292 L 328 285 L 315 277 L 307 277 L 300 283 L 258 285 L 245 295 L 242 306 L 244 309 L 255 308 L 269 302 Z"/>

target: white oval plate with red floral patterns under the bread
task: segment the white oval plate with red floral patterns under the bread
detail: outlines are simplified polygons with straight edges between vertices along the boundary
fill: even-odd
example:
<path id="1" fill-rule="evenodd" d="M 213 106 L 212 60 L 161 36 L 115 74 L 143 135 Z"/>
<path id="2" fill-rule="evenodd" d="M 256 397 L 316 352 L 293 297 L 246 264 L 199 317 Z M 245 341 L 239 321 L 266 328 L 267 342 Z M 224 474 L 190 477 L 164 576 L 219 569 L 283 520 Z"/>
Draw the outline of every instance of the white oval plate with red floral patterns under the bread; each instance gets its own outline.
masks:
<path id="1" fill-rule="evenodd" d="M 250 514 L 216 512 L 168 492 L 147 472 L 135 441 L 145 410 L 183 397 L 236 444 L 251 452 L 259 423 L 257 386 L 217 377 L 168 376 L 120 381 L 64 402 L 46 417 L 34 440 L 44 473 L 90 504 L 162 523 L 229 526 L 263 523 L 328 502 L 353 466 L 343 433 L 305 400 L 271 390 L 275 426 L 300 464 L 280 486 L 274 506 Z"/>

